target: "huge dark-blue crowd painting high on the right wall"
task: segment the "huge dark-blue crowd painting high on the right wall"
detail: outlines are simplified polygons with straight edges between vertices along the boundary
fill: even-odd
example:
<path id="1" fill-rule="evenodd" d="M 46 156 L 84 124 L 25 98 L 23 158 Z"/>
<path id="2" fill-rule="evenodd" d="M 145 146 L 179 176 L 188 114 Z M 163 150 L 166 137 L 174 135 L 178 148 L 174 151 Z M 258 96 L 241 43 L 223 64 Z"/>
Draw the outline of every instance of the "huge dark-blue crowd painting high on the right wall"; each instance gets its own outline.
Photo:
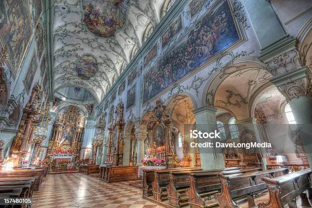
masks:
<path id="1" fill-rule="evenodd" d="M 227 1 L 219 1 L 144 74 L 143 103 L 239 40 Z"/>

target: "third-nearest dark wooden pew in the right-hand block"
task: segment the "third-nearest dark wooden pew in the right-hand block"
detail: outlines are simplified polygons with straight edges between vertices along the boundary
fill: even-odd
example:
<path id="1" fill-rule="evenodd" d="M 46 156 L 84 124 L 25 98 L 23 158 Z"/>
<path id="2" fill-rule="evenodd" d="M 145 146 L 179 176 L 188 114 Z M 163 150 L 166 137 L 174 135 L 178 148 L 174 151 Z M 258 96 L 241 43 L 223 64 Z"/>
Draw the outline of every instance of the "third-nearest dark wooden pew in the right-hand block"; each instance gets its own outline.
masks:
<path id="1" fill-rule="evenodd" d="M 223 172 L 226 175 L 237 174 L 238 171 L 242 173 L 261 171 L 262 168 L 254 168 L 247 170 L 231 170 Z M 221 190 L 221 182 L 219 172 L 202 172 L 189 173 L 190 188 L 186 191 L 189 205 L 191 208 L 210 206 L 211 196 Z"/>

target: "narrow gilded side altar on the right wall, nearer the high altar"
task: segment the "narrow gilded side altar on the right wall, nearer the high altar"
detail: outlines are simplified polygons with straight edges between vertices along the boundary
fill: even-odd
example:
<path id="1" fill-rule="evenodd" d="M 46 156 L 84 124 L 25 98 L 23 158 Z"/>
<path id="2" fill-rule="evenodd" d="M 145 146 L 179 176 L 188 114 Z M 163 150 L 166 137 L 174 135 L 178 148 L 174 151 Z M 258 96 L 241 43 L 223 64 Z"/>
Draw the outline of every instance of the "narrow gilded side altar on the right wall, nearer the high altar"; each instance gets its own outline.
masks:
<path id="1" fill-rule="evenodd" d="M 123 118 L 124 105 L 121 100 L 115 109 L 115 119 L 112 120 L 109 129 L 109 147 L 106 154 L 106 163 L 113 164 L 116 166 L 122 165 L 122 154 L 123 154 Z"/>

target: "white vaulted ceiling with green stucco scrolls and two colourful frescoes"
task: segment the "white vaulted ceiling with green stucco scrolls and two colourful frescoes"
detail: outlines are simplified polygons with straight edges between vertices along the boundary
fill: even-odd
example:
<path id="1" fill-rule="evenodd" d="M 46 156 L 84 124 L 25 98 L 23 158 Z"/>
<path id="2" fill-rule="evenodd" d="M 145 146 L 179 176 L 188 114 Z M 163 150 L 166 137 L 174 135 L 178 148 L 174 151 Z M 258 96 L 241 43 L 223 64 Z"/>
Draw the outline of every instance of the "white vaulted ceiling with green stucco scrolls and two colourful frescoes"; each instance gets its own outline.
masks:
<path id="1" fill-rule="evenodd" d="M 82 87 L 99 101 L 142 46 L 146 28 L 159 23 L 165 2 L 55 0 L 55 91 Z"/>

